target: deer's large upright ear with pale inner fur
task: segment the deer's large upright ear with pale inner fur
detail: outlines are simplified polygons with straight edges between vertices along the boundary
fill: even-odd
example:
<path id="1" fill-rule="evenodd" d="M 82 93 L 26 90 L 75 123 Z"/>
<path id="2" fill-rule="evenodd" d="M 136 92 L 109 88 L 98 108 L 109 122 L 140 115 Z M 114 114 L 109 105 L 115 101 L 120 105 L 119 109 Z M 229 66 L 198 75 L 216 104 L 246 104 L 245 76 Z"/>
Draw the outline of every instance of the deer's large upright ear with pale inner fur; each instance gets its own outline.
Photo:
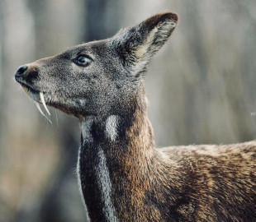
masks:
<path id="1" fill-rule="evenodd" d="M 111 40 L 122 61 L 133 74 L 145 71 L 150 58 L 167 41 L 178 23 L 172 12 L 160 13 L 117 33 Z"/>

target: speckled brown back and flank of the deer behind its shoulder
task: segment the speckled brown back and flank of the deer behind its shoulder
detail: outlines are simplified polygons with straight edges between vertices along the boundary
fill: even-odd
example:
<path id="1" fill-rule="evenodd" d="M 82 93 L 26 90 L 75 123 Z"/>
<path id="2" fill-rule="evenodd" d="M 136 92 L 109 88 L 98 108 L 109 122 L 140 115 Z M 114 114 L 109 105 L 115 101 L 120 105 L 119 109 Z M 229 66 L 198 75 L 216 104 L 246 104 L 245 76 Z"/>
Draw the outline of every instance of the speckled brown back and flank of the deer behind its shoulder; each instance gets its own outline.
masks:
<path id="1" fill-rule="evenodd" d="M 178 221 L 256 221 L 256 141 L 160 150 L 184 172 Z"/>

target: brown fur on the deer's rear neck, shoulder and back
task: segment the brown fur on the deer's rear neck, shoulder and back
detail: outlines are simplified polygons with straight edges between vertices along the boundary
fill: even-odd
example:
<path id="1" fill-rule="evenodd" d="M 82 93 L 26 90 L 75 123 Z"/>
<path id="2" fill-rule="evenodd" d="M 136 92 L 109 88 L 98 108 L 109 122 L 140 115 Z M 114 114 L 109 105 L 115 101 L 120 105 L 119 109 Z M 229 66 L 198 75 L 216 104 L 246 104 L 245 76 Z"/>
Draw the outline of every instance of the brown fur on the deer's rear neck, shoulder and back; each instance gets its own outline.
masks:
<path id="1" fill-rule="evenodd" d="M 157 149 L 141 98 L 128 146 L 107 154 L 117 164 L 112 201 L 121 221 L 256 220 L 256 141 Z"/>

